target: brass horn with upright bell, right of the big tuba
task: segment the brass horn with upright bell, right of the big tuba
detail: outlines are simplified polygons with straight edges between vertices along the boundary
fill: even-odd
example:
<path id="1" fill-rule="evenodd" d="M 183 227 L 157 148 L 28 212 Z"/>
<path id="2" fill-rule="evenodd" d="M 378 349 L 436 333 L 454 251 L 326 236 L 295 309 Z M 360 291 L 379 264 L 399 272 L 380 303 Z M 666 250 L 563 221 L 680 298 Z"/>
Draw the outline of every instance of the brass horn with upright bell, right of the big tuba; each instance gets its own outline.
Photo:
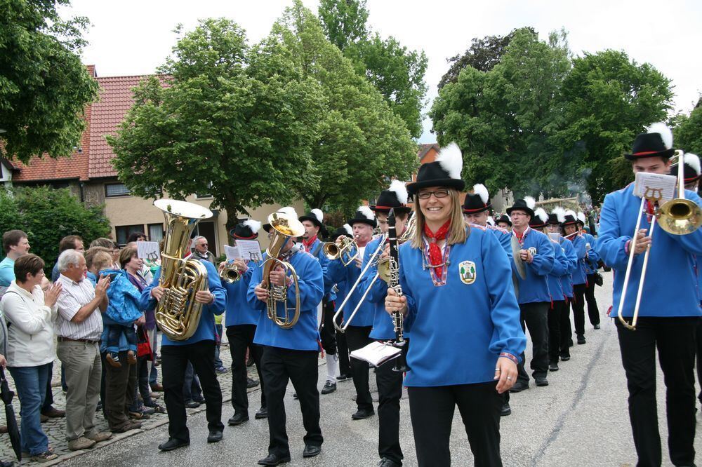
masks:
<path id="1" fill-rule="evenodd" d="M 293 265 L 278 259 L 278 255 L 291 237 L 301 237 L 305 234 L 305 226 L 298 220 L 297 216 L 291 215 L 289 212 L 285 211 L 273 212 L 268 216 L 268 224 L 270 224 L 274 232 L 270 240 L 270 246 L 266 250 L 268 257 L 265 262 L 263 262 L 263 286 L 268 291 L 266 303 L 267 314 L 268 318 L 279 327 L 290 329 L 300 318 L 300 286 L 298 285 L 298 275 Z M 281 266 L 286 272 L 286 275 L 289 273 L 293 279 L 293 287 L 295 287 L 294 308 L 289 308 L 287 304 L 288 287 L 286 285 L 273 285 L 270 282 L 270 273 L 275 266 Z M 283 304 L 283 316 L 279 316 L 277 313 L 277 305 L 279 302 Z M 290 311 L 293 311 L 292 316 L 289 316 Z"/>

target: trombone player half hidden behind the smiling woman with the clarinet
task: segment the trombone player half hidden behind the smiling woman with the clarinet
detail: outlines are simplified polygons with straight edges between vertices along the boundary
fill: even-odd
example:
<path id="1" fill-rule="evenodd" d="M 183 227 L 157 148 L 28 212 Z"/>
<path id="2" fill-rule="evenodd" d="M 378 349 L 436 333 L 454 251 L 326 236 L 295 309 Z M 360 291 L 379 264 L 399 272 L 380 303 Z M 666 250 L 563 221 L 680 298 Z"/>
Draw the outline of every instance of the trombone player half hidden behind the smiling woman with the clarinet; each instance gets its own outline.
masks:
<path id="1" fill-rule="evenodd" d="M 407 189 L 404 183 L 393 180 L 390 188 L 378 196 L 371 210 L 376 213 L 376 220 L 382 236 L 375 238 L 368 245 L 363 255 L 362 269 L 369 263 L 371 255 L 378 249 L 380 243 L 385 243 L 388 234 L 388 214 L 395 214 L 395 229 L 397 235 L 402 235 L 411 208 L 406 207 Z M 383 253 L 383 257 L 387 257 Z M 395 327 L 392 318 L 385 312 L 385 295 L 388 294 L 388 283 L 378 278 L 371 281 L 378 272 L 378 266 L 371 265 L 364 278 L 359 283 L 360 290 L 369 290 L 366 299 L 373 304 L 373 330 L 370 338 L 376 341 L 392 341 L 395 339 Z M 402 398 L 402 372 L 392 370 L 392 363 L 385 363 L 376 368 L 376 384 L 378 385 L 378 455 L 381 467 L 402 466 L 402 447 L 399 445 L 399 400 Z"/>

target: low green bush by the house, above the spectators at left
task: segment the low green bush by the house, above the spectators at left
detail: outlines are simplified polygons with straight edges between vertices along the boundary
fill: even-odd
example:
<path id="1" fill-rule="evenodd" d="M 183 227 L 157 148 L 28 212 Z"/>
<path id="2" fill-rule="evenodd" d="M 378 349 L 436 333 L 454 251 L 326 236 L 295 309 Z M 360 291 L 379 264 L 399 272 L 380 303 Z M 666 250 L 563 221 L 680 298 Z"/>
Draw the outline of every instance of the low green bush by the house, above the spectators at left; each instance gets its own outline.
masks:
<path id="1" fill-rule="evenodd" d="M 79 235 L 86 245 L 110 234 L 104 206 L 86 208 L 68 189 L 21 187 L 0 190 L 0 221 L 4 230 L 27 232 L 32 253 L 51 271 L 58 258 L 58 243 L 67 235 Z"/>

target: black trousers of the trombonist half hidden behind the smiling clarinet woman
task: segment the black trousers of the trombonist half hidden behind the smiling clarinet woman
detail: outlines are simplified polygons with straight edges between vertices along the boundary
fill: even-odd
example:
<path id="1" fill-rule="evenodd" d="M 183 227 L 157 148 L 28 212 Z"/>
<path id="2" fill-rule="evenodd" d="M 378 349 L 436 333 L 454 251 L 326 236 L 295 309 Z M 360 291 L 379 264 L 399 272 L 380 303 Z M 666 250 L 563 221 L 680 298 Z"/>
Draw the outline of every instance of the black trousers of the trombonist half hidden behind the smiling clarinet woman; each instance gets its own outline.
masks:
<path id="1" fill-rule="evenodd" d="M 376 368 L 378 384 L 378 455 L 402 463 L 399 445 L 399 400 L 402 398 L 402 372 L 395 372 L 395 360 Z"/>

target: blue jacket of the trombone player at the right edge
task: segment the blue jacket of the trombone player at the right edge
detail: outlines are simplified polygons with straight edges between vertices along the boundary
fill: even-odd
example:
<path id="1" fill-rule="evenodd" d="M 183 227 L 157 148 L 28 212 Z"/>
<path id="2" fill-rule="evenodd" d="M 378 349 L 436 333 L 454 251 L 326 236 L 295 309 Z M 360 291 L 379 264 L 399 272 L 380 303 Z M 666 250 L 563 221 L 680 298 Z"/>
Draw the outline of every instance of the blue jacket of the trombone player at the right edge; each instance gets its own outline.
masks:
<path id="1" fill-rule="evenodd" d="M 700 198 L 686 190 L 685 197 L 697 205 Z M 625 246 L 631 240 L 641 198 L 634 195 L 634 184 L 604 197 L 600 217 L 600 237 L 595 249 L 604 264 L 614 269 L 612 317 L 616 317 L 628 262 Z M 640 229 L 650 229 L 644 216 Z M 698 295 L 696 255 L 702 255 L 702 230 L 687 235 L 671 235 L 655 227 L 639 316 L 702 316 Z M 644 255 L 634 257 L 626 292 L 623 316 L 633 316 Z"/>

